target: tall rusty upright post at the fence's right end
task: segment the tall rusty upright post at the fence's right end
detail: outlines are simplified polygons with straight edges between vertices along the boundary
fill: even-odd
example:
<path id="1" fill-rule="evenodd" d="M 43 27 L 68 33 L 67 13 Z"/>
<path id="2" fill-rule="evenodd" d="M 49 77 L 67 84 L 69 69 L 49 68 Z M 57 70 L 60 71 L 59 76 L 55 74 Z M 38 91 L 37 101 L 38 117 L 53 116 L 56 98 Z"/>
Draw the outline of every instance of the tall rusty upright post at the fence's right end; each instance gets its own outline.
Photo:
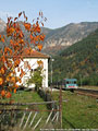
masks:
<path id="1" fill-rule="evenodd" d="M 59 96 L 59 120 L 60 128 L 62 129 L 62 85 L 60 84 L 60 96 Z"/>

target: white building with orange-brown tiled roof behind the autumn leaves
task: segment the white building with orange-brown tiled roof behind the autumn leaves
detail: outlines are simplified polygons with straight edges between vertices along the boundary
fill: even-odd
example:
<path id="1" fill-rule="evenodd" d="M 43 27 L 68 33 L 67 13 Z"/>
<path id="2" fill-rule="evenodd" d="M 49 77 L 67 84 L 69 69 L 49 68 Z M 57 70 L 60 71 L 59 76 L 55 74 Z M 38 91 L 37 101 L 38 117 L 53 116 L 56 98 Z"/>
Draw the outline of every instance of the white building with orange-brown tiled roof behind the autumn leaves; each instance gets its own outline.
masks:
<path id="1" fill-rule="evenodd" d="M 30 71 L 34 71 L 38 67 L 37 61 L 42 61 L 42 87 L 48 87 L 48 59 L 49 56 L 44 55 L 39 51 L 33 50 L 29 53 L 25 50 L 24 53 L 22 53 L 23 61 L 20 63 L 20 67 L 22 67 L 23 71 L 26 72 L 26 74 L 22 78 L 22 83 L 17 83 L 19 85 L 27 86 L 27 79 L 30 78 Z M 30 70 L 28 70 L 27 64 L 30 67 Z M 20 76 L 20 71 L 17 71 L 16 68 L 16 75 Z M 34 87 L 35 84 L 30 84 L 28 87 Z"/>

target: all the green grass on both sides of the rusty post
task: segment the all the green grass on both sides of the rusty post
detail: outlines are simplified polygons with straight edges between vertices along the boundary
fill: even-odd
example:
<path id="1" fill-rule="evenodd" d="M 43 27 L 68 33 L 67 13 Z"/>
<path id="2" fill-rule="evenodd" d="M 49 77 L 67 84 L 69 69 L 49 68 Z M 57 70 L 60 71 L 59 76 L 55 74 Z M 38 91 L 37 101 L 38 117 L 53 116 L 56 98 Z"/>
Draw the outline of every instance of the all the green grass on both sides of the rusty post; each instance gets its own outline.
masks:
<path id="1" fill-rule="evenodd" d="M 59 92 L 52 92 L 53 99 L 59 99 Z M 17 92 L 16 94 L 12 95 L 12 100 L 14 99 L 14 103 L 34 103 L 34 102 L 44 102 L 42 98 L 39 97 L 39 95 L 36 92 Z M 77 95 L 75 93 L 71 93 L 69 91 L 62 93 L 62 99 L 66 99 L 66 102 L 63 102 L 62 105 L 62 128 L 63 129 L 98 129 L 98 99 Z M 8 99 L 2 99 L 3 103 L 8 102 Z M 27 108 L 27 106 L 23 106 L 21 108 Z M 40 110 L 47 110 L 46 105 L 42 106 L 28 106 L 30 109 L 40 109 Z M 29 112 L 26 114 L 26 119 Z M 38 121 L 40 117 L 42 117 L 42 120 L 36 131 L 39 131 L 41 128 L 46 128 L 45 122 L 48 117 L 48 112 L 41 111 L 38 112 L 35 123 Z M 23 116 L 23 112 L 20 114 L 21 119 Z M 34 112 L 33 112 L 34 116 Z M 19 122 L 16 123 L 16 127 L 14 130 L 19 130 L 19 123 L 21 121 L 19 119 Z M 25 120 L 26 120 L 25 119 Z M 25 122 L 24 122 L 25 124 Z M 49 123 L 50 124 L 50 123 Z M 22 126 L 23 127 L 23 126 Z M 52 128 L 52 124 L 49 126 L 49 128 Z M 27 127 L 27 131 L 30 131 L 30 129 Z"/>

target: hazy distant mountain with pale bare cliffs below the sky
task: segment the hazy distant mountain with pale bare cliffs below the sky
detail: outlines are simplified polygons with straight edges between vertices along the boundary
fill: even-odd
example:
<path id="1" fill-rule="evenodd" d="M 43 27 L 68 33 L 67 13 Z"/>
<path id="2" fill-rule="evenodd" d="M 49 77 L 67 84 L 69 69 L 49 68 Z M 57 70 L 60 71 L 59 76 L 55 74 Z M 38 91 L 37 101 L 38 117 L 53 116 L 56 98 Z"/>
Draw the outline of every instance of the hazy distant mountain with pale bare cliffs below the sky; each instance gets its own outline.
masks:
<path id="1" fill-rule="evenodd" d="M 44 51 L 50 55 L 82 40 L 98 28 L 98 22 L 71 23 L 61 28 L 48 31 L 44 41 Z M 46 33 L 45 33 L 46 34 Z"/>

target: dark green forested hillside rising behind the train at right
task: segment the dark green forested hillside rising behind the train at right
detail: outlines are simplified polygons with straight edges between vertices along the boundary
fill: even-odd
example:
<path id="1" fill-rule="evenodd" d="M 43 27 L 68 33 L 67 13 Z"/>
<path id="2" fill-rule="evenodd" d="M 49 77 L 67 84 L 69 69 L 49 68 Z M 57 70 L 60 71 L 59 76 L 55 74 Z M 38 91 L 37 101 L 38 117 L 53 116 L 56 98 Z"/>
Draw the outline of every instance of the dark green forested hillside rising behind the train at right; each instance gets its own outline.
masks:
<path id="1" fill-rule="evenodd" d="M 54 57 L 53 82 L 77 78 L 87 85 L 98 85 L 98 29 Z"/>

